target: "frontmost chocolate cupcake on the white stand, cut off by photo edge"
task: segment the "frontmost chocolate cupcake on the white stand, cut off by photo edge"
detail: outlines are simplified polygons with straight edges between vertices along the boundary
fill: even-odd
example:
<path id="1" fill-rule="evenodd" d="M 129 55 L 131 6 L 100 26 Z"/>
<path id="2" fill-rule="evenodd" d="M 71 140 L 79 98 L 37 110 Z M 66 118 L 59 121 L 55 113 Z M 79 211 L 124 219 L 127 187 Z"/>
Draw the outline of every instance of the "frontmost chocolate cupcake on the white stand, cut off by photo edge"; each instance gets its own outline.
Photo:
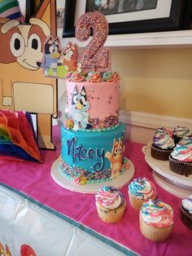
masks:
<path id="1" fill-rule="evenodd" d="M 192 174 L 192 147 L 177 144 L 169 156 L 169 168 L 177 174 Z"/>

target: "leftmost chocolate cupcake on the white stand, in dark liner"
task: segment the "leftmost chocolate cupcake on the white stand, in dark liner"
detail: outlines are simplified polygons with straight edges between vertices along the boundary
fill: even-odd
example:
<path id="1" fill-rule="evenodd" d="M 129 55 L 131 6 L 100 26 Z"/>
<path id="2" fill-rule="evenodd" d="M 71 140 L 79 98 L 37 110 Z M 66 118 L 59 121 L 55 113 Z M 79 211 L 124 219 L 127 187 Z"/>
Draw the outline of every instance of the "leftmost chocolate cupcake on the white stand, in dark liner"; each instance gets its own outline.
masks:
<path id="1" fill-rule="evenodd" d="M 151 157 L 157 160 L 167 161 L 174 148 L 172 132 L 167 128 L 158 128 L 151 144 Z"/>

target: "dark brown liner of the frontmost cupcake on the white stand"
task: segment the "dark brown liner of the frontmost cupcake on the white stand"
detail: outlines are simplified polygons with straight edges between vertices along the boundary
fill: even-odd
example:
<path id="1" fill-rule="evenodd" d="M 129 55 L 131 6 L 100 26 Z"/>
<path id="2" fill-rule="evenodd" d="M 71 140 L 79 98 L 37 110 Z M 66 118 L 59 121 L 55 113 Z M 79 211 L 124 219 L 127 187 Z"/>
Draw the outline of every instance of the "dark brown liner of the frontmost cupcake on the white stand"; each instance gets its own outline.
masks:
<path id="1" fill-rule="evenodd" d="M 173 172 L 181 175 L 188 176 L 192 174 L 192 162 L 179 161 L 169 156 L 169 168 Z"/>

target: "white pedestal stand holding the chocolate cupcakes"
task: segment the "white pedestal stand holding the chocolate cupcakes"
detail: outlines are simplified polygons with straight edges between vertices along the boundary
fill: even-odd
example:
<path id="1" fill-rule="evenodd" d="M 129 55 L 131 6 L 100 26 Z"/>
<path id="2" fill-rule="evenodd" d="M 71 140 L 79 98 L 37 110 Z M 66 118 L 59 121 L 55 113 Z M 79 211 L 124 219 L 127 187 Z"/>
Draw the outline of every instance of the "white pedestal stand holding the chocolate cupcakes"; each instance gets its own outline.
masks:
<path id="1" fill-rule="evenodd" d="M 145 160 L 153 170 L 153 178 L 161 188 L 179 197 L 189 196 L 192 193 L 192 174 L 186 177 L 172 172 L 168 161 L 160 161 L 151 157 L 151 143 L 142 148 Z"/>

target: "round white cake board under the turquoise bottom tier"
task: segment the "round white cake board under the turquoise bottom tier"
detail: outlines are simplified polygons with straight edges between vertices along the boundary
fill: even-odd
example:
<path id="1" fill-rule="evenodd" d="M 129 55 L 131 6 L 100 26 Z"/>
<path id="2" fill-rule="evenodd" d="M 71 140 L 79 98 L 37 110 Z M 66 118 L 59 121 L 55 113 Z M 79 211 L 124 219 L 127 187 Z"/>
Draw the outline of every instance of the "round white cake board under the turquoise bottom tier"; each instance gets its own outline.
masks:
<path id="1" fill-rule="evenodd" d="M 55 180 L 55 183 L 58 183 L 62 188 L 66 188 L 72 192 L 79 192 L 84 194 L 96 194 L 99 189 L 102 189 L 105 186 L 112 186 L 115 188 L 123 188 L 127 185 L 131 179 L 133 179 L 133 175 L 135 172 L 132 161 L 129 161 L 129 169 L 125 170 L 123 174 L 116 177 L 116 179 L 112 179 L 107 182 L 101 183 L 88 183 L 88 184 L 78 184 L 74 183 L 72 180 L 63 177 L 62 174 L 59 173 L 59 161 L 60 157 L 58 157 L 51 167 L 51 176 Z"/>

